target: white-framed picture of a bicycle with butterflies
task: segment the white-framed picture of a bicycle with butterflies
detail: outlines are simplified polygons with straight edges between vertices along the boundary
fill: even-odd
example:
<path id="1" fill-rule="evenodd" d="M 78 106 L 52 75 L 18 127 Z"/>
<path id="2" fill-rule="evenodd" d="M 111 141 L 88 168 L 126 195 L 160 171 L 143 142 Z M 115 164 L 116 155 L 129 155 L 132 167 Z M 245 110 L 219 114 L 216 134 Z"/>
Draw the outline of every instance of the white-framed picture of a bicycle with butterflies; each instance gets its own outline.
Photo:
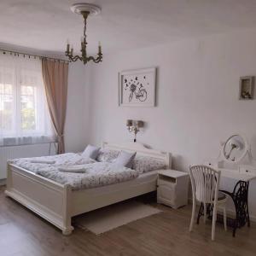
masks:
<path id="1" fill-rule="evenodd" d="M 155 106 L 156 67 L 119 73 L 119 106 Z"/>

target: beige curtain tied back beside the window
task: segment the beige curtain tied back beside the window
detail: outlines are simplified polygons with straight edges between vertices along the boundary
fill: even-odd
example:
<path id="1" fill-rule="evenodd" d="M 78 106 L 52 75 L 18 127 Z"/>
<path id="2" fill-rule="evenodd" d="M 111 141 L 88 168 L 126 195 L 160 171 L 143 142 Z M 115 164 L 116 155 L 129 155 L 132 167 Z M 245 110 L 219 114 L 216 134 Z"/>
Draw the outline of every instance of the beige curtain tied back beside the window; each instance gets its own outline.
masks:
<path id="1" fill-rule="evenodd" d="M 67 108 L 68 63 L 42 60 L 43 79 L 49 114 L 58 139 L 58 154 L 65 152 L 64 125 Z"/>

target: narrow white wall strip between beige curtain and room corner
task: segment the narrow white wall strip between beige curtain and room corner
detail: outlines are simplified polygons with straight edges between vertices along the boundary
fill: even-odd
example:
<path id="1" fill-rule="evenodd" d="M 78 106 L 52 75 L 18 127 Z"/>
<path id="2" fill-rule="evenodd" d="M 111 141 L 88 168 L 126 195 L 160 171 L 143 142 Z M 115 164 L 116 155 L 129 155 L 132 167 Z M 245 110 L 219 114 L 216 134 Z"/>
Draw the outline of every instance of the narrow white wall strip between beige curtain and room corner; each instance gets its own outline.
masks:
<path id="1" fill-rule="evenodd" d="M 84 150 L 88 131 L 84 119 L 87 108 L 86 75 L 84 64 L 76 62 L 69 65 L 67 86 L 67 117 L 65 125 L 65 145 L 67 152 Z"/>

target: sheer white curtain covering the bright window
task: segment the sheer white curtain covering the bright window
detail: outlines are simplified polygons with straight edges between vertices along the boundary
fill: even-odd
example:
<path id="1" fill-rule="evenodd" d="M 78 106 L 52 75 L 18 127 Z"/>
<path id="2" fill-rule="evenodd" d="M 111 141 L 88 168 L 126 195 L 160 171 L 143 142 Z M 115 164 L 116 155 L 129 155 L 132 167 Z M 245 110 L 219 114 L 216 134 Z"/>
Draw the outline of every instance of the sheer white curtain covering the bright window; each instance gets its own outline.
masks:
<path id="1" fill-rule="evenodd" d="M 0 146 L 55 141 L 39 59 L 0 56 Z"/>

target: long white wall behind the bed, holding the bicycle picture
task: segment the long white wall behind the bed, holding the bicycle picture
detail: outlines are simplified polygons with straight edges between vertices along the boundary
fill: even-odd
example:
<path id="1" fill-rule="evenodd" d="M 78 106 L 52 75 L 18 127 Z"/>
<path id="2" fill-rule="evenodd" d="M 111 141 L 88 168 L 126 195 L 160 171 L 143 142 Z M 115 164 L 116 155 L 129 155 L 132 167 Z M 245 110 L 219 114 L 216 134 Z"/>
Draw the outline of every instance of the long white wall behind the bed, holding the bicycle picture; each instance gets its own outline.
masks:
<path id="1" fill-rule="evenodd" d="M 120 108 L 119 71 L 143 67 L 158 67 L 157 107 Z M 236 132 L 247 136 L 256 157 L 256 100 L 238 100 L 240 76 L 256 75 L 255 31 L 106 55 L 89 68 L 90 143 L 132 140 L 125 120 L 142 119 L 147 127 L 138 142 L 172 152 L 177 170 L 217 156 L 220 140 Z"/>

